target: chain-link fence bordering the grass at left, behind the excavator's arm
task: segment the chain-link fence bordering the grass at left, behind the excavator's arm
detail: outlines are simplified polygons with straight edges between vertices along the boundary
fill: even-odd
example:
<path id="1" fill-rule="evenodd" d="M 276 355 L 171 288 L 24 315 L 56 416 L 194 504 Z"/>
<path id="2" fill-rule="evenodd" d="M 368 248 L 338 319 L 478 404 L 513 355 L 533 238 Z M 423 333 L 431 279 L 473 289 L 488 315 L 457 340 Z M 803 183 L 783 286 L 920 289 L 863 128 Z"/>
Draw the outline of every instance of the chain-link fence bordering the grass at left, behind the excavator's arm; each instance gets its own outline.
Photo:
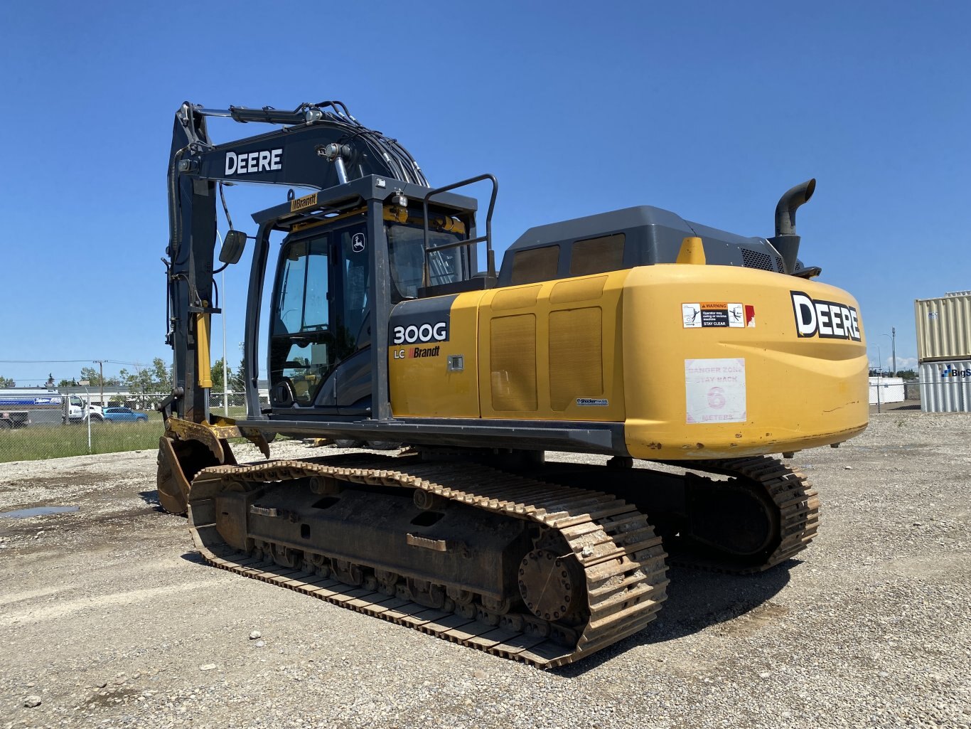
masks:
<path id="1" fill-rule="evenodd" d="M 0 463 L 155 450 L 165 430 L 155 405 L 166 397 L 160 393 L 106 394 L 103 405 L 95 404 L 99 398 L 94 392 L 90 399 L 47 393 L 4 399 L 0 404 Z M 261 393 L 260 402 L 268 405 L 269 399 Z M 210 411 L 244 418 L 246 394 L 212 393 Z"/>

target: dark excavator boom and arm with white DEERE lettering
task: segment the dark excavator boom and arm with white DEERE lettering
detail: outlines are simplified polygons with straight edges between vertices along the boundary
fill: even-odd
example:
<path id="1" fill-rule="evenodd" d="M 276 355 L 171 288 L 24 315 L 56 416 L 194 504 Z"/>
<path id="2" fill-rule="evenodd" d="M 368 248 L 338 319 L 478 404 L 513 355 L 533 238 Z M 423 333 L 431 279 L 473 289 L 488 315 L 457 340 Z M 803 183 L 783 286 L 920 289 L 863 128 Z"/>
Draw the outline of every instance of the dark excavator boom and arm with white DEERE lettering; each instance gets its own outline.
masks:
<path id="1" fill-rule="evenodd" d="M 209 136 L 209 117 L 277 128 L 216 145 Z M 339 101 L 301 104 L 291 112 L 182 105 L 168 168 L 166 343 L 174 362 L 172 394 L 159 406 L 166 417 L 176 414 L 193 423 L 209 419 L 209 318 L 219 311 L 213 286 L 217 186 L 248 182 L 324 190 L 367 175 L 428 187 L 404 147 L 356 121 Z M 223 243 L 230 239 L 236 245 L 224 245 L 224 263 L 238 260 L 244 234 L 230 231 Z"/>

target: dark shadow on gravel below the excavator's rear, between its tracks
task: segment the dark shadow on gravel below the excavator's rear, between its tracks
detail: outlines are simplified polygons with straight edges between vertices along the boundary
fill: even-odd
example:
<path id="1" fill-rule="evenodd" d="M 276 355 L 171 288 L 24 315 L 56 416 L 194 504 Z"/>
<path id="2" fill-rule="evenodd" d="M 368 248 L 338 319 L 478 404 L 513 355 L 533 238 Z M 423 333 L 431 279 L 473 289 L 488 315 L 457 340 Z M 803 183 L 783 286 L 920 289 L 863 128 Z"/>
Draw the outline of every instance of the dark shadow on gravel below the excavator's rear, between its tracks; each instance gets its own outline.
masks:
<path id="1" fill-rule="evenodd" d="M 672 567 L 668 570 L 668 598 L 643 631 L 579 663 L 552 669 L 551 673 L 565 678 L 581 676 L 637 645 L 675 641 L 741 617 L 768 603 L 786 586 L 789 570 L 800 564 L 791 559 L 758 574 L 705 573 Z"/>

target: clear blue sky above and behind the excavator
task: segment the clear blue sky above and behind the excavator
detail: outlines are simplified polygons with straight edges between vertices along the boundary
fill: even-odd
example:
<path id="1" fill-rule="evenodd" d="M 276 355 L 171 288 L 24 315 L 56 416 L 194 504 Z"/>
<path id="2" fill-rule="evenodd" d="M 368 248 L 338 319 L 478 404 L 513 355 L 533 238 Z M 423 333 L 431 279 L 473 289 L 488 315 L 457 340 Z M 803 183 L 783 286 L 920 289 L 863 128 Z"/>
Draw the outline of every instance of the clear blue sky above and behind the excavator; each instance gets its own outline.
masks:
<path id="1" fill-rule="evenodd" d="M 3 361 L 109 374 L 169 359 L 159 259 L 184 100 L 341 99 L 432 184 L 495 174 L 500 251 L 529 226 L 638 204 L 771 235 L 779 195 L 816 177 L 800 256 L 859 300 L 874 364 L 891 327 L 898 366 L 916 364 L 915 298 L 971 289 L 968 3 L 96 6 L 0 10 Z M 284 199 L 229 195 L 251 233 L 250 213 Z M 230 364 L 244 263 L 226 272 Z M 214 339 L 215 359 L 218 321 Z M 0 374 L 39 384 L 84 364 Z"/>

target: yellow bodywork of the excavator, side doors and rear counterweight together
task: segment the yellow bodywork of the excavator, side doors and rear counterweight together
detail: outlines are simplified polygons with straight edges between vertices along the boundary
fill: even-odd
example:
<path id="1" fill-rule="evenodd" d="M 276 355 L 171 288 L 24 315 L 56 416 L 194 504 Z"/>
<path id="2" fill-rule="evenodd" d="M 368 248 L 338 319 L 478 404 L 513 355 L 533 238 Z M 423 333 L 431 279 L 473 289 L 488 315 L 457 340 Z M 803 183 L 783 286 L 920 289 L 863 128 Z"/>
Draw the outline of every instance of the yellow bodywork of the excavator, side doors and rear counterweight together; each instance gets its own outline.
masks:
<path id="1" fill-rule="evenodd" d="M 800 333 L 799 301 L 822 307 L 824 336 L 805 323 Z M 622 423 L 630 455 L 651 460 L 839 442 L 867 423 L 857 310 L 825 284 L 704 264 L 460 294 L 435 356 L 390 348 L 391 407 L 522 427 Z"/>

